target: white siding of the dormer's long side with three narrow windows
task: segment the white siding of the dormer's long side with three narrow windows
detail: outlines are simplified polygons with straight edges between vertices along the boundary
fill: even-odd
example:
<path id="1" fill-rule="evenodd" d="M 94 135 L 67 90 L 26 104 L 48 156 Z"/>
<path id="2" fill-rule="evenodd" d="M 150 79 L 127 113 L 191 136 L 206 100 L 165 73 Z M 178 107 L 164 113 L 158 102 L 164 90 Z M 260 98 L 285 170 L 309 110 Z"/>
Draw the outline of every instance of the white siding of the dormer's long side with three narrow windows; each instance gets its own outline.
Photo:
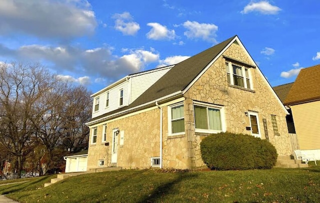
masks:
<path id="1" fill-rule="evenodd" d="M 123 105 L 119 106 L 120 100 L 120 89 L 123 89 Z M 109 92 L 109 106 L 105 107 L 106 104 L 106 92 Z M 99 97 L 99 110 L 94 112 L 94 98 Z M 93 98 L 93 111 L 92 118 L 105 114 L 107 112 L 116 110 L 123 106 L 127 106 L 129 103 L 129 89 L 128 89 L 128 81 L 124 81 L 117 86 L 102 92 L 101 94 L 95 96 Z"/>

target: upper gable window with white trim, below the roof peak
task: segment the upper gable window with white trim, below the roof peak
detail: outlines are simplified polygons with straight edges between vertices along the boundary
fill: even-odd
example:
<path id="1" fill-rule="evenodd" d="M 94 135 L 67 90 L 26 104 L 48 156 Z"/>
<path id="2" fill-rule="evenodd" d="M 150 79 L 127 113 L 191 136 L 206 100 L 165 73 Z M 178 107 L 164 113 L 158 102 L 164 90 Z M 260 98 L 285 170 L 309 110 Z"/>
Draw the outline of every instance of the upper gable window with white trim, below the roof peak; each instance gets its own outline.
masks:
<path id="1" fill-rule="evenodd" d="M 225 62 L 227 82 L 247 89 L 251 89 L 249 69 L 243 65 Z"/>

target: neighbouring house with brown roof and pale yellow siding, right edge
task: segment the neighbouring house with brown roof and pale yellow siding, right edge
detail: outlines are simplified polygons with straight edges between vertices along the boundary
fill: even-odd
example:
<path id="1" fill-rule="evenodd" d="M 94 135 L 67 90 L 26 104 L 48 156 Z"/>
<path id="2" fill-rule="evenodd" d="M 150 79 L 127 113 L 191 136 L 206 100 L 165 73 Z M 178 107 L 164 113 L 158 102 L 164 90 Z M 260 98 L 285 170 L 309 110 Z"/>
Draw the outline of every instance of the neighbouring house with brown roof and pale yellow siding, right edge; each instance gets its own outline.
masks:
<path id="1" fill-rule="evenodd" d="M 320 160 L 320 64 L 303 68 L 284 104 L 291 109 L 300 150 Z"/>

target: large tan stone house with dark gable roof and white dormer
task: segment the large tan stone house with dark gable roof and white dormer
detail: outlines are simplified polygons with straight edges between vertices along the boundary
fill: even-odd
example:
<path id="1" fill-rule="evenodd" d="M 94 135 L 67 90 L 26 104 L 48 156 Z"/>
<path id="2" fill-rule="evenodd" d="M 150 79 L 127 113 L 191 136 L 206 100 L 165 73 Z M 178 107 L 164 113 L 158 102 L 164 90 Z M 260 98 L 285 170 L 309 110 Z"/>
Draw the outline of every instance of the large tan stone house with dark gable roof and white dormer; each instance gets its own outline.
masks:
<path id="1" fill-rule="evenodd" d="M 162 69 L 151 71 L 157 70 Z M 93 106 L 109 98 L 114 108 L 98 116 L 93 113 L 87 123 L 88 170 L 200 167 L 204 164 L 199 143 L 223 131 L 267 139 L 279 155 L 291 154 L 288 112 L 237 36 L 165 70 L 136 98 L 125 96 L 132 95 L 132 83 L 126 94 L 118 87 L 128 85 L 130 76 L 92 95 Z M 144 80 L 138 84 L 144 86 Z M 114 101 L 112 88 L 117 91 Z M 121 101 L 126 102 L 119 105 Z"/>

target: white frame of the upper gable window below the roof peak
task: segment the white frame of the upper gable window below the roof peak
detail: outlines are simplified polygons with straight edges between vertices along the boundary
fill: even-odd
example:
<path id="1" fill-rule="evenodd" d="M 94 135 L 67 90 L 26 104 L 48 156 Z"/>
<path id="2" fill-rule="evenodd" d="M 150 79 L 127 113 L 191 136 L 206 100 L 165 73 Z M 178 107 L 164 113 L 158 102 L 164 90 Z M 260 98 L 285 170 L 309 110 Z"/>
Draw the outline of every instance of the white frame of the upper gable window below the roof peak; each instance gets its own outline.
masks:
<path id="1" fill-rule="evenodd" d="M 226 72 L 229 73 L 229 78 L 230 78 L 230 83 L 228 83 L 228 84 L 234 85 L 234 86 L 240 87 L 240 88 L 251 89 L 251 90 L 253 89 L 253 87 L 252 87 L 251 73 L 250 73 L 250 68 L 249 68 L 249 67 L 246 67 L 246 66 L 244 66 L 244 65 L 239 65 L 239 64 L 237 64 L 237 63 L 232 63 L 232 62 L 230 62 L 230 61 L 225 61 L 225 64 L 227 64 L 228 70 L 226 70 Z M 242 76 L 240 76 L 240 77 L 243 78 L 243 87 L 234 84 L 233 75 L 236 75 L 236 74 L 233 72 L 233 67 L 232 67 L 232 65 L 235 65 L 235 66 L 238 66 L 238 67 L 241 68 Z M 246 76 L 246 74 L 245 74 L 245 69 L 247 69 L 248 76 Z M 246 79 L 249 80 L 249 85 L 250 85 L 250 87 L 247 86 L 247 84 L 246 84 Z"/>

